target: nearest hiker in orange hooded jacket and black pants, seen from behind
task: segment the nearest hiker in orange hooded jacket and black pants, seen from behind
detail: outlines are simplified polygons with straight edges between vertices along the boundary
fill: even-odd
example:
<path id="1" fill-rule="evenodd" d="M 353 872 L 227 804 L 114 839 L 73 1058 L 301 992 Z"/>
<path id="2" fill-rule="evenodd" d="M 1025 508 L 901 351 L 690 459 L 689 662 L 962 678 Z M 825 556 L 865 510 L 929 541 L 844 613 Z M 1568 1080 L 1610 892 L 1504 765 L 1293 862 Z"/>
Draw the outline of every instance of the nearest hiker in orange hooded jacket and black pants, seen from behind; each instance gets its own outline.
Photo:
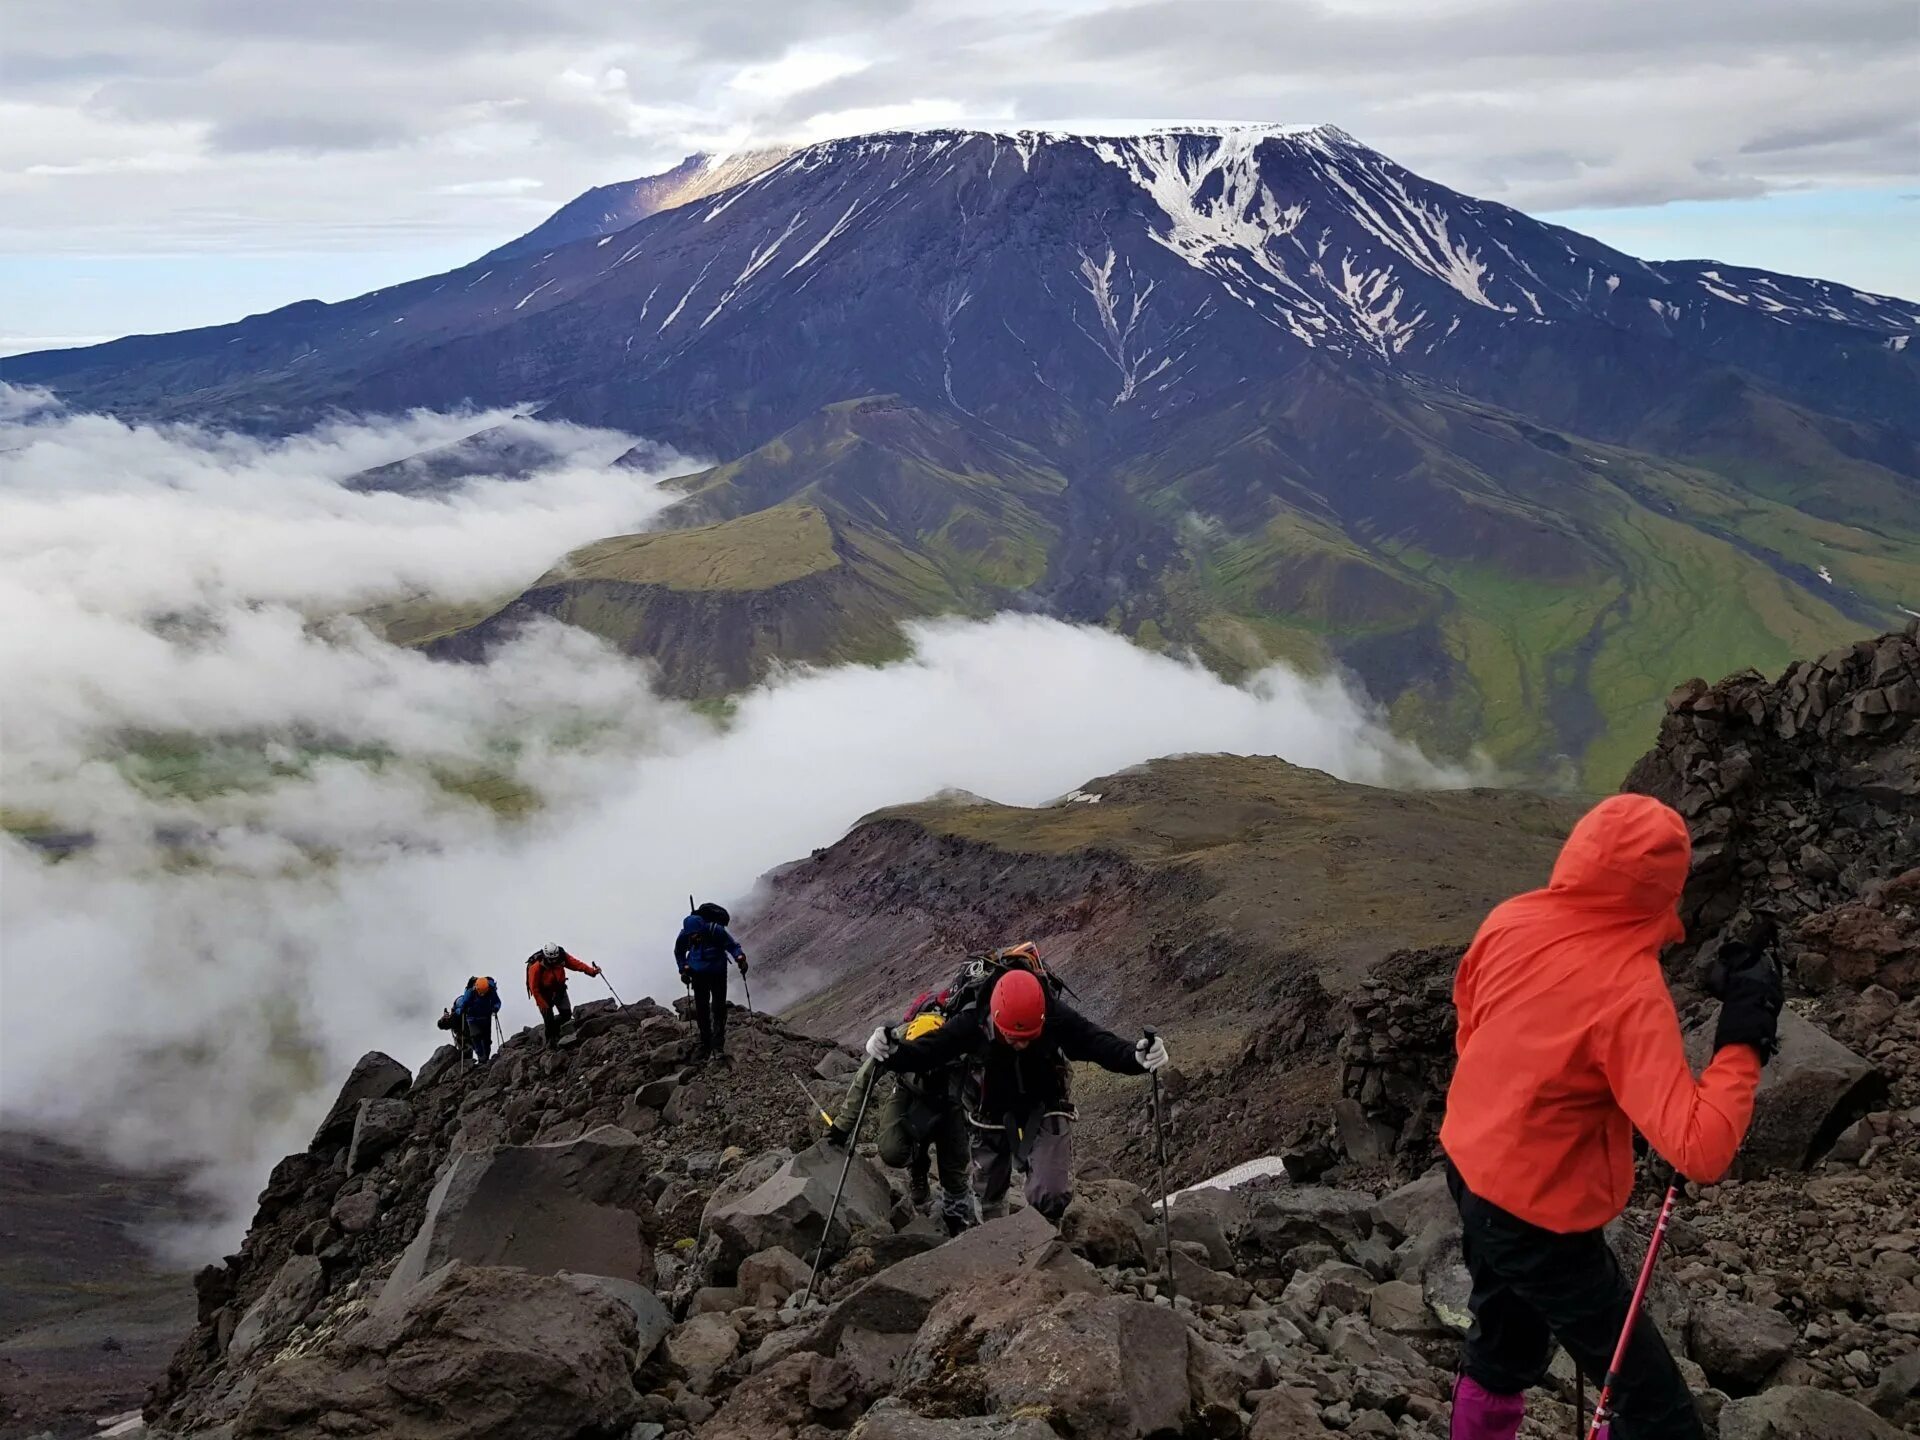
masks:
<path id="1" fill-rule="evenodd" d="M 1684 937 L 1686 822 L 1615 795 L 1572 828 L 1542 891 L 1500 904 L 1453 981 L 1459 1066 L 1440 1146 L 1473 1275 L 1455 1440 L 1513 1440 L 1555 1340 L 1607 1373 L 1632 1288 L 1603 1227 L 1634 1188 L 1634 1131 L 1688 1179 L 1718 1181 L 1774 1050 L 1780 970 L 1736 954 L 1699 1079 L 1661 975 Z M 1615 1382 L 1613 1440 L 1693 1440 L 1693 1400 L 1651 1315 Z"/>

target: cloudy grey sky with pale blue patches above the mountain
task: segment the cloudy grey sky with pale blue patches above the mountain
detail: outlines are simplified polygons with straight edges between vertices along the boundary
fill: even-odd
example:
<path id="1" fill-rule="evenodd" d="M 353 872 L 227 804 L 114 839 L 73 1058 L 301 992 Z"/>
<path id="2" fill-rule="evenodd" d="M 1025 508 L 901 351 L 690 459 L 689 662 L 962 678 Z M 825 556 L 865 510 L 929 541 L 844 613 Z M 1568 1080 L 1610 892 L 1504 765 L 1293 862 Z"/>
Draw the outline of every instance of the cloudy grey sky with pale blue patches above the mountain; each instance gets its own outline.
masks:
<path id="1" fill-rule="evenodd" d="M 1649 257 L 1920 298 L 1914 0 L 4 0 L 0 349 L 457 265 L 691 150 L 1334 121 Z"/>

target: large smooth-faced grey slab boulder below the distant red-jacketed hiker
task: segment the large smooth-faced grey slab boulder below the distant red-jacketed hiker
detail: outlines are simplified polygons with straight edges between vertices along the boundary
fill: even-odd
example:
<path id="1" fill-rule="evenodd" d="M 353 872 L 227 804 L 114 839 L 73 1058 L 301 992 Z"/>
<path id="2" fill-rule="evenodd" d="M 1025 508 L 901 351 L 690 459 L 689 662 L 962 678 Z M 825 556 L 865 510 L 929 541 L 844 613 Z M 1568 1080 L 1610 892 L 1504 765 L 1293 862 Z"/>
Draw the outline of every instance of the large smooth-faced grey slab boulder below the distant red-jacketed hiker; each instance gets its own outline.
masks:
<path id="1" fill-rule="evenodd" d="M 612 1125 L 561 1144 L 457 1154 L 376 1304 L 401 1304 L 449 1260 L 651 1281 L 649 1177 L 647 1150 Z"/>

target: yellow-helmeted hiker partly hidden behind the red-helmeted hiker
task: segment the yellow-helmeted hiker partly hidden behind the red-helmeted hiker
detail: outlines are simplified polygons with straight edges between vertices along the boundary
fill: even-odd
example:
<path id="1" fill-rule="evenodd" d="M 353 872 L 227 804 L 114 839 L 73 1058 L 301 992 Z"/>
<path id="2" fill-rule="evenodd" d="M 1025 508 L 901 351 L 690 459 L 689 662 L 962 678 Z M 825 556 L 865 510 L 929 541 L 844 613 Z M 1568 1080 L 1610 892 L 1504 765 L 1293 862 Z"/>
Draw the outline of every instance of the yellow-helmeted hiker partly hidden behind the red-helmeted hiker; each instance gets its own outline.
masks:
<path id="1" fill-rule="evenodd" d="M 941 998 L 922 995 L 906 1008 L 902 1043 L 933 1035 L 947 1023 Z M 914 1210 L 925 1213 L 933 1198 L 931 1171 L 939 1160 L 941 1206 L 939 1217 L 948 1235 L 960 1235 L 973 1223 L 973 1194 L 968 1188 L 968 1125 L 960 1104 L 966 1062 L 941 1066 L 922 1073 L 893 1077 L 893 1089 L 879 1102 L 879 1160 L 906 1171 Z M 868 1056 L 847 1087 L 847 1100 L 831 1121 L 828 1142 L 841 1148 L 852 1144 L 854 1117 L 870 1085 L 879 1081 L 879 1062 Z"/>

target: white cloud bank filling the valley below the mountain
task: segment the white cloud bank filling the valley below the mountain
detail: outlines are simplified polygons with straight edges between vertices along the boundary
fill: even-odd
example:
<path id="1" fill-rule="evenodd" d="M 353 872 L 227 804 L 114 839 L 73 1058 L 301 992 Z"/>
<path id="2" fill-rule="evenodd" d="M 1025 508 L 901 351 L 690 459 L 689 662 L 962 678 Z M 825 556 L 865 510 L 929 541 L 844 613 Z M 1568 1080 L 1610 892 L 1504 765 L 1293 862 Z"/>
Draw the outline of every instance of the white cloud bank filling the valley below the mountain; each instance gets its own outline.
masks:
<path id="1" fill-rule="evenodd" d="M 1334 680 L 1235 687 L 1035 616 L 918 626 L 910 660 L 783 674 L 724 724 L 557 624 L 486 664 L 392 647 L 348 612 L 511 593 L 664 505 L 605 468 L 624 438 L 563 428 L 524 480 L 344 484 L 499 419 L 265 442 L 0 392 L 0 793 L 88 837 L 0 841 L 0 1121 L 186 1164 L 230 1223 L 355 1056 L 430 1052 L 468 973 L 511 1023 L 547 939 L 666 995 L 689 889 L 749 895 L 881 804 L 1035 804 L 1181 751 L 1461 780 Z"/>

